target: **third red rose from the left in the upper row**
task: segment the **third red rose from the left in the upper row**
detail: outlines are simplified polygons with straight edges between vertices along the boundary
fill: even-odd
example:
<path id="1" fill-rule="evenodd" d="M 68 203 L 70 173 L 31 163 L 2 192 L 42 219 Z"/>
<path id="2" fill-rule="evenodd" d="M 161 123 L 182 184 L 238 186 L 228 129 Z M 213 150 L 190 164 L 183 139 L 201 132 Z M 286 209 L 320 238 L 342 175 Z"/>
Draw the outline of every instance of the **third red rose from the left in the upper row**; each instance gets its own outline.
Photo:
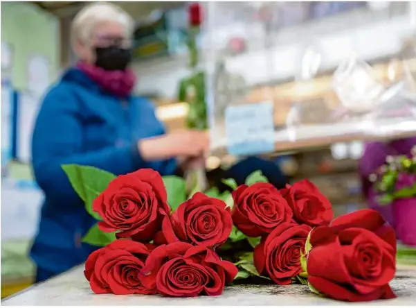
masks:
<path id="1" fill-rule="evenodd" d="M 233 191 L 233 199 L 233 222 L 248 237 L 269 234 L 292 219 L 287 201 L 270 183 L 240 185 Z"/>

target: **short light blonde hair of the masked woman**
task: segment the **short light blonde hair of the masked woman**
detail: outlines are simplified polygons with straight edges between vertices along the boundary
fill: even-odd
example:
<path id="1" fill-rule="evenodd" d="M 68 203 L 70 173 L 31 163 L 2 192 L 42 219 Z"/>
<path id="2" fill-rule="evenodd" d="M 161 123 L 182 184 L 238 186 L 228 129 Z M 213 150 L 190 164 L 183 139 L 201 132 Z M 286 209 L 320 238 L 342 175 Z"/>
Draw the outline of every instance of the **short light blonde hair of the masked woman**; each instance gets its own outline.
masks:
<path id="1" fill-rule="evenodd" d="M 85 42 L 91 37 L 94 28 L 101 22 L 118 22 L 125 28 L 127 37 L 134 30 L 134 21 L 122 8 L 113 3 L 95 2 L 91 3 L 75 16 L 71 25 L 71 42 L 78 40 Z"/>

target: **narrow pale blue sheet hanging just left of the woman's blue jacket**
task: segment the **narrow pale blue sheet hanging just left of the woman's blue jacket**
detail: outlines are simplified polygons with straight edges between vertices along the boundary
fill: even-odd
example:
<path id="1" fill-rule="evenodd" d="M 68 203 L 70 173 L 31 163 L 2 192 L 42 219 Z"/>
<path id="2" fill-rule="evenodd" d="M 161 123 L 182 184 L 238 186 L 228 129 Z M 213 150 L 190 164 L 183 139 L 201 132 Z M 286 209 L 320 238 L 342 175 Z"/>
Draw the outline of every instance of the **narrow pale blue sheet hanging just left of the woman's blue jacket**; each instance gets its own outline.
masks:
<path id="1" fill-rule="evenodd" d="M 21 162 L 30 163 L 32 160 L 32 135 L 39 105 L 40 99 L 36 94 L 21 92 L 19 95 L 19 114 L 17 117 L 17 157 Z"/>

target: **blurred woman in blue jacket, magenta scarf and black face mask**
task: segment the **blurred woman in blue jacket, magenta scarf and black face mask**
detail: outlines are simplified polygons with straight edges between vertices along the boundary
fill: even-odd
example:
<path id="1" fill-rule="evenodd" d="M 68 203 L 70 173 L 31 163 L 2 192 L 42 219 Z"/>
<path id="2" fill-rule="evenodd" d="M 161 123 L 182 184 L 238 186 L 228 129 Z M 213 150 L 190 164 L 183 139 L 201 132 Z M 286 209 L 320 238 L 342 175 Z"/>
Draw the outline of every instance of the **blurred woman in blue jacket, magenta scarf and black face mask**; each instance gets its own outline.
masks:
<path id="1" fill-rule="evenodd" d="M 166 133 L 154 106 L 132 96 L 133 21 L 110 3 L 93 3 L 73 20 L 78 65 L 46 95 L 33 132 L 33 171 L 44 191 L 30 256 L 37 282 L 81 264 L 94 249 L 82 237 L 96 223 L 71 188 L 62 164 L 96 166 L 117 175 L 152 168 L 162 175 L 201 162 L 203 132 Z M 202 160 L 203 161 L 203 160 Z"/>

